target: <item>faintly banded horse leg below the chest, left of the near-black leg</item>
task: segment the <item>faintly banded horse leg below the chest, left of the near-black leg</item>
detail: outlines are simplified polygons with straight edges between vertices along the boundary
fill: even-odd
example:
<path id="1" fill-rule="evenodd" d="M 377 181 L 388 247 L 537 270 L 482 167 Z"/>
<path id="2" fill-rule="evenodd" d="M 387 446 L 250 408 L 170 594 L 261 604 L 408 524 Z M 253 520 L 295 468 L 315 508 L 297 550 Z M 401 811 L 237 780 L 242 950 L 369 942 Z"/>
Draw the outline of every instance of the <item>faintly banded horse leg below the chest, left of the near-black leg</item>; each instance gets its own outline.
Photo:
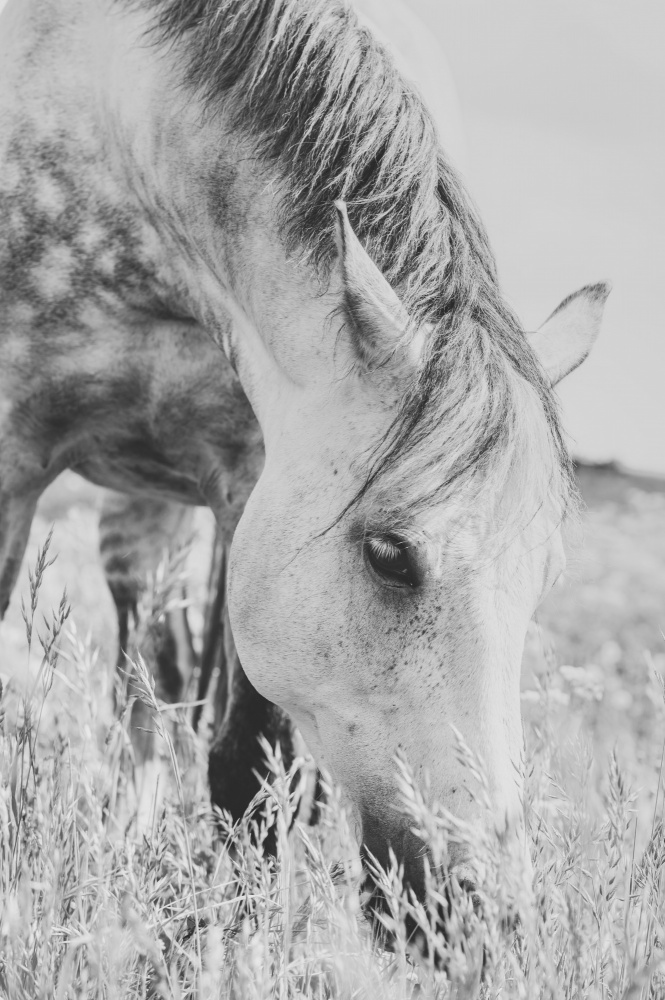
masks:
<path id="1" fill-rule="evenodd" d="M 126 678 L 127 693 L 135 698 L 130 733 L 140 828 L 145 828 L 152 812 L 160 766 L 153 710 L 131 661 L 141 654 L 152 671 L 155 696 L 160 701 L 182 701 L 195 665 L 187 614 L 178 606 L 184 600 L 184 589 L 177 581 L 169 583 L 168 563 L 161 590 L 156 580 L 160 563 L 169 555 L 176 563 L 173 575 L 179 575 L 177 548 L 183 548 L 184 553 L 193 516 L 193 508 L 181 504 L 114 493 L 105 495 L 100 516 L 102 563 L 118 614 L 116 683 Z M 147 595 L 151 586 L 152 593 Z M 146 596 L 152 597 L 153 607 L 143 609 L 142 615 Z"/>

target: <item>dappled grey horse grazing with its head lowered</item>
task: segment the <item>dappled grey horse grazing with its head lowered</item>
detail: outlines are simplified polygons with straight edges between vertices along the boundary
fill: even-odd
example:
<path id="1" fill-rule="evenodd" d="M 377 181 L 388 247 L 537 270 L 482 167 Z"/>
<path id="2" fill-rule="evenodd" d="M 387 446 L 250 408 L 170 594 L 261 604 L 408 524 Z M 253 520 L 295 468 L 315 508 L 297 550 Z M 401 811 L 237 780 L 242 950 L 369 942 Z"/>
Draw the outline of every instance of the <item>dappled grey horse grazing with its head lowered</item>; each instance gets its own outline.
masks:
<path id="1" fill-rule="evenodd" d="M 607 289 L 526 335 L 422 98 L 342 0 L 3 16 L 2 606 L 65 467 L 208 504 L 233 538 L 225 724 L 286 711 L 422 893 L 396 752 L 520 835 L 522 647 L 575 509 L 552 386 Z M 234 809 L 239 728 L 210 756 Z"/>

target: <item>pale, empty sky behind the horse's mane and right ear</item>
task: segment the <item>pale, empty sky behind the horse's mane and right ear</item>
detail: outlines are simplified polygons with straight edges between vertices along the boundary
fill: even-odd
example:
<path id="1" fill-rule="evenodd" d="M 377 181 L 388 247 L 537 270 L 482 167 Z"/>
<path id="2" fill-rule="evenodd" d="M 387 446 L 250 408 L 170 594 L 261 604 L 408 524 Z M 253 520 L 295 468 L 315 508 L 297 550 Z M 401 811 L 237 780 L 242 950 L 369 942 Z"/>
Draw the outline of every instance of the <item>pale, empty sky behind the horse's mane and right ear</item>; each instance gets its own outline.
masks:
<path id="1" fill-rule="evenodd" d="M 665 4 L 408 2 L 450 62 L 467 186 L 527 326 L 612 282 L 559 390 L 575 454 L 665 473 Z"/>

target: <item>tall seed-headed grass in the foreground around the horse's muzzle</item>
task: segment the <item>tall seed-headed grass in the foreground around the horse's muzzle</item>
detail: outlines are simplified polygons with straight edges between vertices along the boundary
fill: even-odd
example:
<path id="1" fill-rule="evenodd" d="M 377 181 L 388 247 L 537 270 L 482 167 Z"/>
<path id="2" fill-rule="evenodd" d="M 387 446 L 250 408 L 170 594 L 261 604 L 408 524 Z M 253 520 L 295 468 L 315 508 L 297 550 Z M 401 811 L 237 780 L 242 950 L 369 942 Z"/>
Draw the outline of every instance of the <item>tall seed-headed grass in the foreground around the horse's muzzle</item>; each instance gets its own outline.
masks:
<path id="1" fill-rule="evenodd" d="M 337 789 L 328 787 L 317 827 L 304 825 L 295 770 L 285 773 L 279 748 L 266 746 L 273 781 L 259 818 L 234 828 L 213 817 L 204 750 L 183 710 L 157 700 L 140 656 L 109 724 L 109 685 L 66 598 L 38 614 L 49 545 L 24 607 L 31 681 L 0 696 L 0 996 L 665 997 L 662 766 L 647 815 L 648 790 L 631 791 L 621 747 L 600 776 L 583 739 L 562 745 L 557 699 L 563 686 L 588 682 L 580 672 L 550 660 L 525 698 L 532 872 L 498 837 L 430 802 L 396 761 L 402 807 L 434 867 L 425 903 L 403 890 L 397 866 L 374 870 L 388 951 L 367 921 Z M 167 610 L 163 594 L 155 608 Z M 660 695 L 653 738 L 662 754 L 662 683 Z M 129 735 L 136 697 L 168 772 L 167 794 L 141 831 Z M 482 761 L 461 741 L 458 753 L 482 797 Z M 270 825 L 277 861 L 260 846 Z M 482 874 L 473 899 L 446 874 L 454 840 L 470 846 Z"/>

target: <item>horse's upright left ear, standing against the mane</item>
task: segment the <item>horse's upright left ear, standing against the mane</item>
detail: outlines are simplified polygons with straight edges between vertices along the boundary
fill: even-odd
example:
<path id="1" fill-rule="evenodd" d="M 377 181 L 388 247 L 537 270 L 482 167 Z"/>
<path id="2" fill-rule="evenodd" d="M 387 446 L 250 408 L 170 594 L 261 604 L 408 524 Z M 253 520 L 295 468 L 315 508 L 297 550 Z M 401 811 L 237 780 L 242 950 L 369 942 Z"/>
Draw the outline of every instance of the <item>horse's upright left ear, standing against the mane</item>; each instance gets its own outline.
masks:
<path id="1" fill-rule="evenodd" d="M 409 315 L 354 233 L 346 204 L 336 201 L 335 208 L 337 249 L 354 347 L 367 367 L 375 368 L 406 346 Z"/>

